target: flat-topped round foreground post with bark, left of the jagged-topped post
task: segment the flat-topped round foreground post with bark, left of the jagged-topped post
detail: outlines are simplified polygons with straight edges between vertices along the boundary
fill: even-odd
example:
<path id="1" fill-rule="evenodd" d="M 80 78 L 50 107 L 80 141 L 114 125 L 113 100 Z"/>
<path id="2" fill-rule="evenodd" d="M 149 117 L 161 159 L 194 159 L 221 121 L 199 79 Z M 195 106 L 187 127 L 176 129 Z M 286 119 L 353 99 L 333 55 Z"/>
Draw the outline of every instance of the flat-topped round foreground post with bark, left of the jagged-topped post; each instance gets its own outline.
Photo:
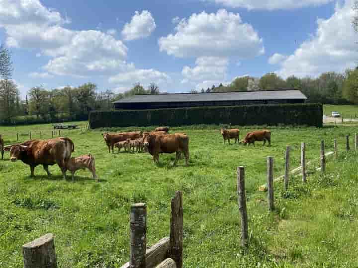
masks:
<path id="1" fill-rule="evenodd" d="M 130 215 L 130 268 L 146 267 L 147 205 L 136 203 Z"/>

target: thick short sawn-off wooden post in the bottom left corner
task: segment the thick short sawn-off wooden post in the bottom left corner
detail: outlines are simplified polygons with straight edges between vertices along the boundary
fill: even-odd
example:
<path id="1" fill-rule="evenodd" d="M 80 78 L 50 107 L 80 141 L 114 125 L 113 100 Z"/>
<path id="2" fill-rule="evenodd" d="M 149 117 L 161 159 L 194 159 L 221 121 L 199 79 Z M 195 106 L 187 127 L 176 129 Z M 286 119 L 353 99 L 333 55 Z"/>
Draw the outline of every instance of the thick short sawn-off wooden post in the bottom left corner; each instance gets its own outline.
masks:
<path id="1" fill-rule="evenodd" d="M 55 243 L 46 234 L 22 246 L 24 268 L 57 268 Z"/>

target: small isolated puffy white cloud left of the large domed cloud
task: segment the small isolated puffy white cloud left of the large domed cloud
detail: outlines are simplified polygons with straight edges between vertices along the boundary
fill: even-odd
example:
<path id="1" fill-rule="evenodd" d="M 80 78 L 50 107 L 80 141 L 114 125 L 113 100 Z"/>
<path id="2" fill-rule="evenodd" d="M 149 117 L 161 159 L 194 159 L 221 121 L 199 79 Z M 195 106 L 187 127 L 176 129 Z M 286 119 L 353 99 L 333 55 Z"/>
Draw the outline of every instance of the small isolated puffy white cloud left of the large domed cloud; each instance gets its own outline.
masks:
<path id="1" fill-rule="evenodd" d="M 156 23 L 152 13 L 148 10 L 143 10 L 142 13 L 135 11 L 131 22 L 127 22 L 122 30 L 122 35 L 125 40 L 135 40 L 148 37 L 155 30 Z"/>

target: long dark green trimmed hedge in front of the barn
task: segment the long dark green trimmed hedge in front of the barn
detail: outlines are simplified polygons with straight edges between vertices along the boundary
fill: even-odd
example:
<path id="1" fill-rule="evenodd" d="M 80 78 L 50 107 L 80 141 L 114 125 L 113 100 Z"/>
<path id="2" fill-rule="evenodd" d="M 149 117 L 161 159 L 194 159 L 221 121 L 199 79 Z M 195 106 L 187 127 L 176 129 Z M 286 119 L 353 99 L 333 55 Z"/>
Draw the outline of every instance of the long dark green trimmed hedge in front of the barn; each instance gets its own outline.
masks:
<path id="1" fill-rule="evenodd" d="M 92 111 L 89 127 L 228 125 L 306 125 L 322 127 L 322 104 L 193 107 L 155 110 Z"/>

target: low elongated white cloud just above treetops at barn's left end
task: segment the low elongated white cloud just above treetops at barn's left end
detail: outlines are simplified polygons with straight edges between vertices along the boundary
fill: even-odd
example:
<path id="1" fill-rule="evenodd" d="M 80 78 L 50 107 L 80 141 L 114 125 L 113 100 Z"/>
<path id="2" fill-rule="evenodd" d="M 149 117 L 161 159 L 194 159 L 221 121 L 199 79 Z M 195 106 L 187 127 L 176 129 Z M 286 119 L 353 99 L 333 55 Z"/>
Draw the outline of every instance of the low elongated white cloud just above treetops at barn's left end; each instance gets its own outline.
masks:
<path id="1" fill-rule="evenodd" d="M 109 82 L 121 86 L 133 85 L 137 82 L 149 85 L 152 82 L 156 84 L 165 84 L 168 83 L 170 79 L 169 75 L 155 69 L 134 69 L 109 77 Z"/>

